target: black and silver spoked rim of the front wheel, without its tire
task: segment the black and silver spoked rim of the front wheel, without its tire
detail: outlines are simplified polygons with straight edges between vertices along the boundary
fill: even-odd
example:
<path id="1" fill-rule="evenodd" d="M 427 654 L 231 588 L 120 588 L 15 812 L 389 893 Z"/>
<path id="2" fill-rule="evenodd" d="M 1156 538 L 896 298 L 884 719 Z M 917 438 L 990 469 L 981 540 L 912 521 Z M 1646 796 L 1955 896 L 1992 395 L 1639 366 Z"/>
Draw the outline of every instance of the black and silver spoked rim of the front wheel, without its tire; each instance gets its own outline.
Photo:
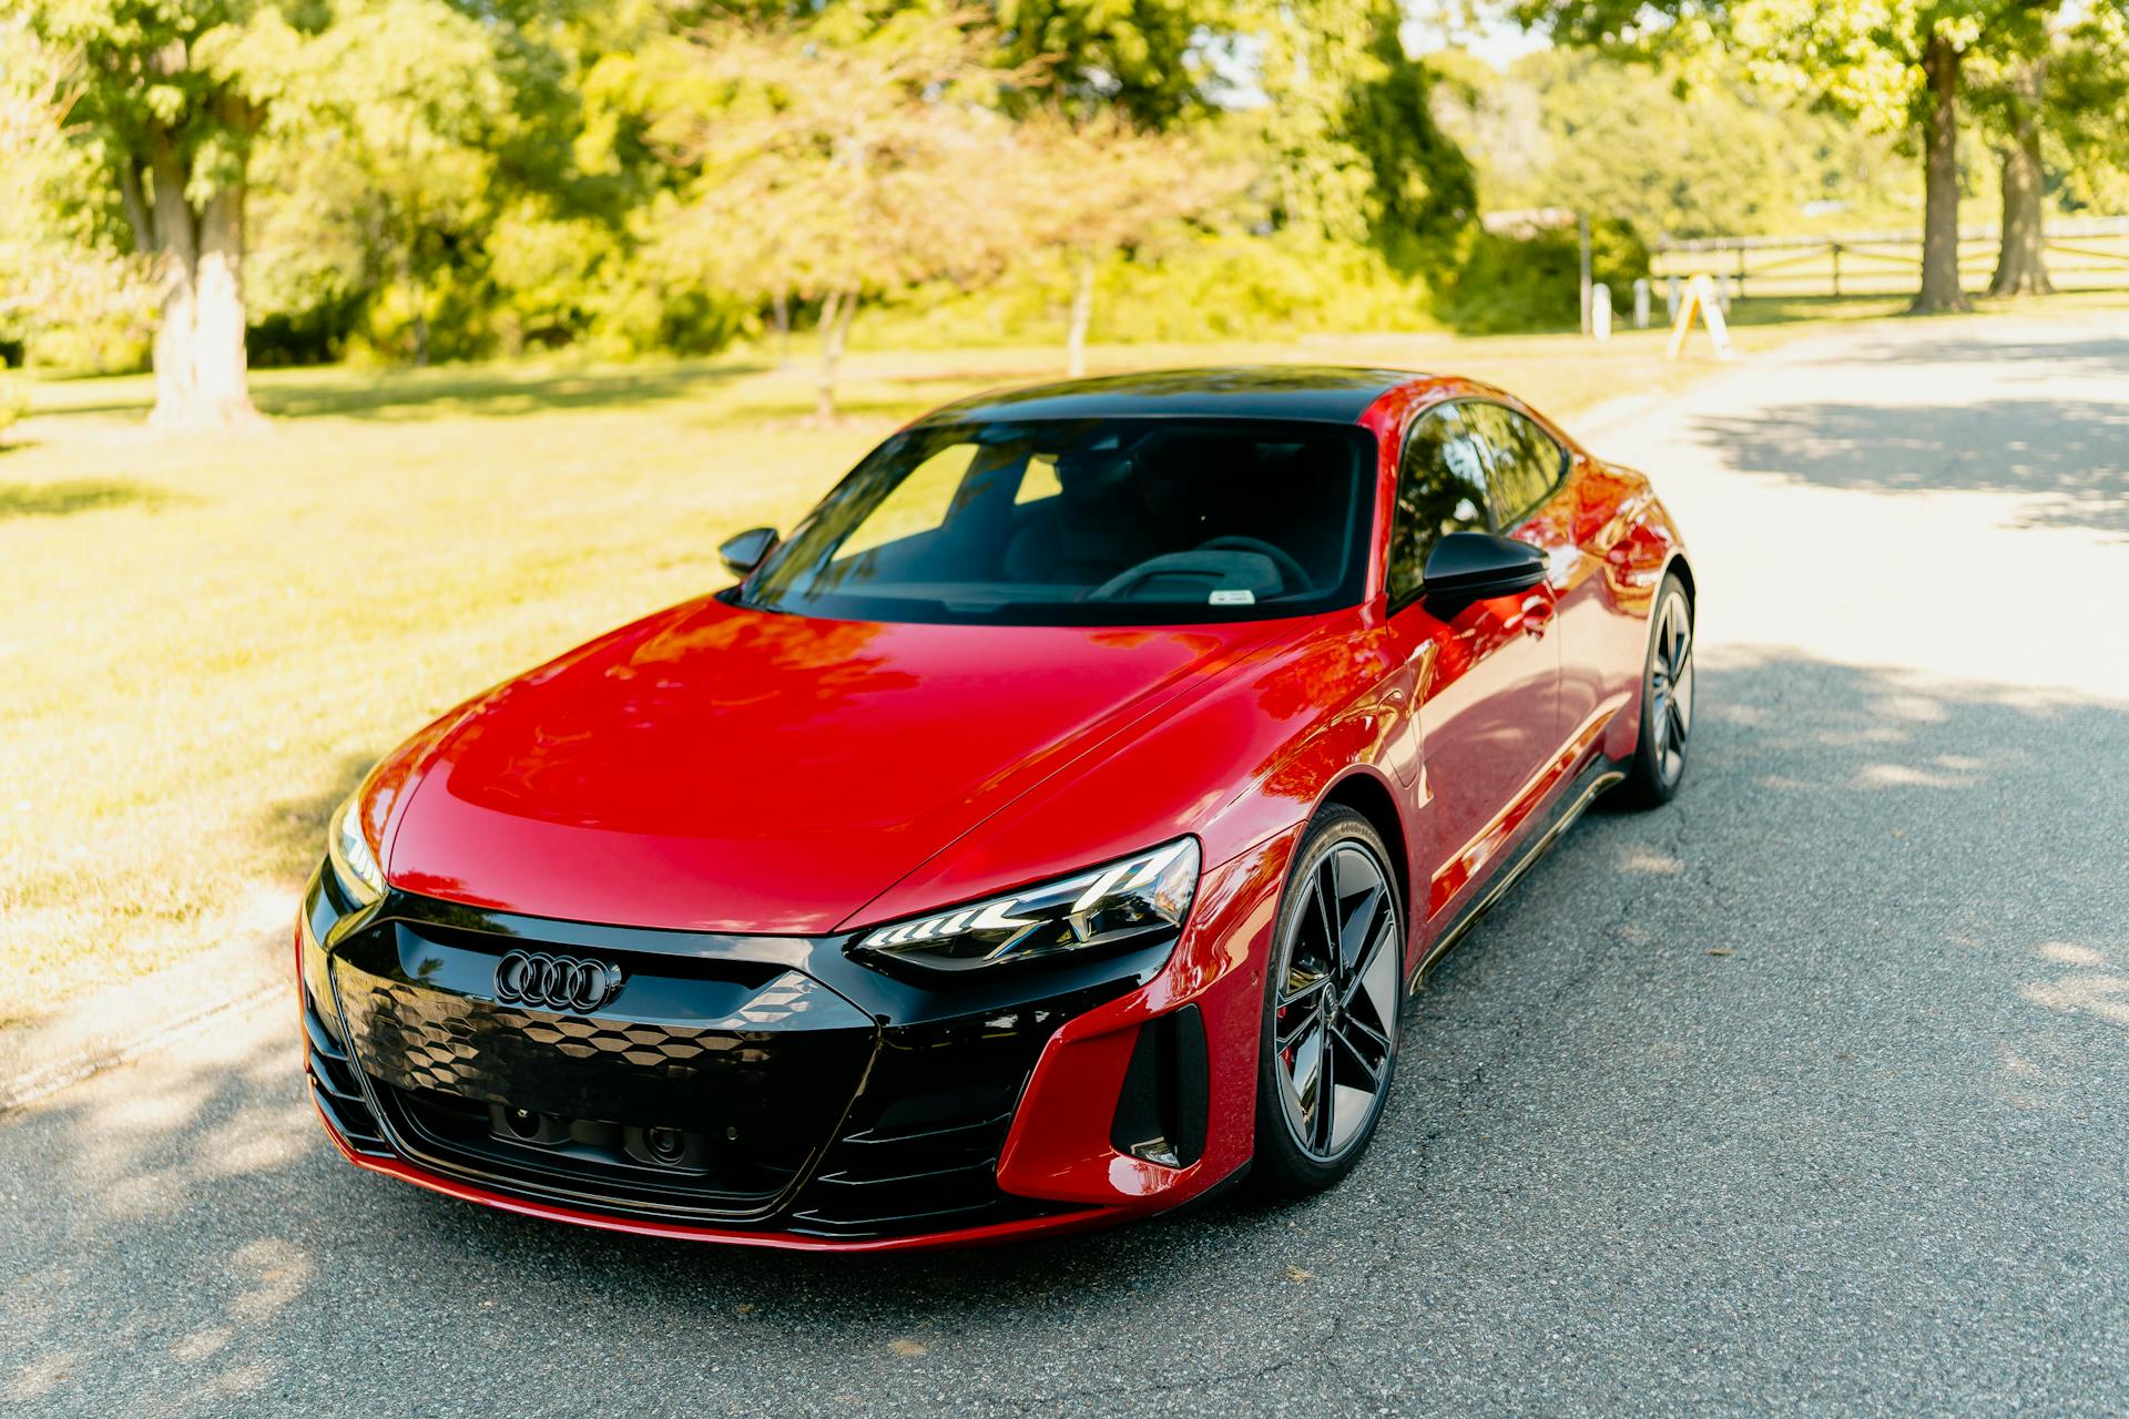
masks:
<path id="1" fill-rule="evenodd" d="M 1403 930 L 1382 859 L 1358 842 L 1324 853 L 1297 889 L 1307 896 L 1280 942 L 1271 1049 L 1294 1142 L 1335 1162 L 1390 1083 Z"/>

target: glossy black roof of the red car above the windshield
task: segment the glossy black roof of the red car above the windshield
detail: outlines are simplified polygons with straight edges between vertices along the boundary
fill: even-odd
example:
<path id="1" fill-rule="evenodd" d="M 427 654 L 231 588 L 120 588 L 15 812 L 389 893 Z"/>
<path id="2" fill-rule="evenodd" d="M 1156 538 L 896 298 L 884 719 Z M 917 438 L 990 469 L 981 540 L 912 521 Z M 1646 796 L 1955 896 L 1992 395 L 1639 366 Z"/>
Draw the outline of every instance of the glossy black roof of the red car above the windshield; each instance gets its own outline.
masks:
<path id="1" fill-rule="evenodd" d="M 1145 370 L 992 389 L 933 411 L 924 423 L 1009 419 L 1222 417 L 1358 423 L 1390 389 L 1426 379 L 1414 370 L 1335 364 L 1250 364 Z"/>

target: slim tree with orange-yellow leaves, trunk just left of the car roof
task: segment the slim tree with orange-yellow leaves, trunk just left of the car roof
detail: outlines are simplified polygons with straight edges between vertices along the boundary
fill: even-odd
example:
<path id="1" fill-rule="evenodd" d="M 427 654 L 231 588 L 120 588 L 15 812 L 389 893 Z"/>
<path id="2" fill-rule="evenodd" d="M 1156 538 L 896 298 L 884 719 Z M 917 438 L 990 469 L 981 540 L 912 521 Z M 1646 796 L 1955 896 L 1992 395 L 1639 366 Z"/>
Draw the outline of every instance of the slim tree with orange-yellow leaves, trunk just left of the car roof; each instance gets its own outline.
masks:
<path id="1" fill-rule="evenodd" d="M 1009 198 L 1013 79 L 967 15 L 907 11 L 864 38 L 809 26 L 705 26 L 645 60 L 651 138 L 696 177 L 666 208 L 666 262 L 769 300 L 820 302 L 822 419 L 858 304 L 969 281 L 1020 247 Z"/>

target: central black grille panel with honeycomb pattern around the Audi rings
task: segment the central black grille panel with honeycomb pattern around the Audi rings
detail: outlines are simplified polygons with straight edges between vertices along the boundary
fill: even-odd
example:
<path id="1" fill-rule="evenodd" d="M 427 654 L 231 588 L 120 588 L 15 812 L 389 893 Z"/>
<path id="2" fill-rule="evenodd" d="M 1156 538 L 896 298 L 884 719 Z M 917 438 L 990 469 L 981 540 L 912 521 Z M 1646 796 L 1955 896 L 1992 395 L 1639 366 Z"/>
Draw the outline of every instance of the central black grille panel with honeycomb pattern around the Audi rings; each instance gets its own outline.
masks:
<path id="1" fill-rule="evenodd" d="M 334 953 L 392 1140 L 441 1172 L 664 1219 L 771 1213 L 835 1136 L 877 1025 L 762 962 L 598 953 L 592 1013 L 496 1000 L 513 938 L 390 923 Z"/>

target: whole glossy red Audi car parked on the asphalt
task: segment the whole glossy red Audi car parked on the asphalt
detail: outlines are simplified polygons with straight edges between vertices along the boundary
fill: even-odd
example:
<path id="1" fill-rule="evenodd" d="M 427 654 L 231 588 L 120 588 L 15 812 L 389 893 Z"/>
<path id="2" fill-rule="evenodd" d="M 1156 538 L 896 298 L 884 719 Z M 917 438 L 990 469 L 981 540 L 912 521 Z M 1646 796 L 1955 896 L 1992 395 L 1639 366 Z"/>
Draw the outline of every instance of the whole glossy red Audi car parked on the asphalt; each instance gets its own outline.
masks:
<path id="1" fill-rule="evenodd" d="M 826 1249 L 1326 1187 L 1429 964 L 1684 772 L 1671 519 L 1463 379 L 981 396 L 722 555 L 334 817 L 296 957 L 351 1162 Z"/>

